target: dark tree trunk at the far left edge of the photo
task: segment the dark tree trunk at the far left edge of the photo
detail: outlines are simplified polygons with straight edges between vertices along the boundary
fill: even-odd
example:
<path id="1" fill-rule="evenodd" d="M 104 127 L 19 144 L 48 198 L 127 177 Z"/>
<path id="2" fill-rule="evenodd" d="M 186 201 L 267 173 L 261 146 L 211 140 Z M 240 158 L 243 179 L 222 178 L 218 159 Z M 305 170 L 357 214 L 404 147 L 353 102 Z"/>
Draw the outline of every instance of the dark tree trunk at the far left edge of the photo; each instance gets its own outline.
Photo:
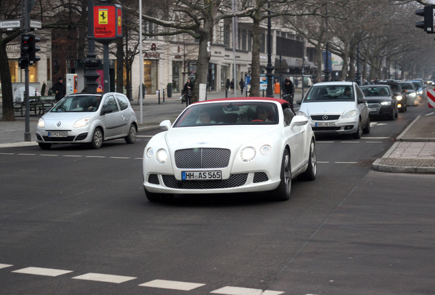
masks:
<path id="1" fill-rule="evenodd" d="M 0 79 L 3 102 L 3 121 L 15 121 L 14 98 L 12 97 L 12 78 L 9 72 L 9 59 L 6 53 L 6 43 L 0 39 Z"/>

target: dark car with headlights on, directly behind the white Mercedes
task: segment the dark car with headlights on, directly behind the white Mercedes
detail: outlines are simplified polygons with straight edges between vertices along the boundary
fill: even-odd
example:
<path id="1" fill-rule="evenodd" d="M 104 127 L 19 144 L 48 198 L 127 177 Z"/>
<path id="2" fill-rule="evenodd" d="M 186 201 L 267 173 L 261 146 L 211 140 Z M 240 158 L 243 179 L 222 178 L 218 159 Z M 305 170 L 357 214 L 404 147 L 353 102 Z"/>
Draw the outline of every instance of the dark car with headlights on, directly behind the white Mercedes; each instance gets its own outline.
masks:
<path id="1" fill-rule="evenodd" d="M 361 86 L 367 104 L 369 105 L 370 117 L 388 117 L 395 120 L 399 113 L 397 100 L 390 85 L 376 84 Z"/>

